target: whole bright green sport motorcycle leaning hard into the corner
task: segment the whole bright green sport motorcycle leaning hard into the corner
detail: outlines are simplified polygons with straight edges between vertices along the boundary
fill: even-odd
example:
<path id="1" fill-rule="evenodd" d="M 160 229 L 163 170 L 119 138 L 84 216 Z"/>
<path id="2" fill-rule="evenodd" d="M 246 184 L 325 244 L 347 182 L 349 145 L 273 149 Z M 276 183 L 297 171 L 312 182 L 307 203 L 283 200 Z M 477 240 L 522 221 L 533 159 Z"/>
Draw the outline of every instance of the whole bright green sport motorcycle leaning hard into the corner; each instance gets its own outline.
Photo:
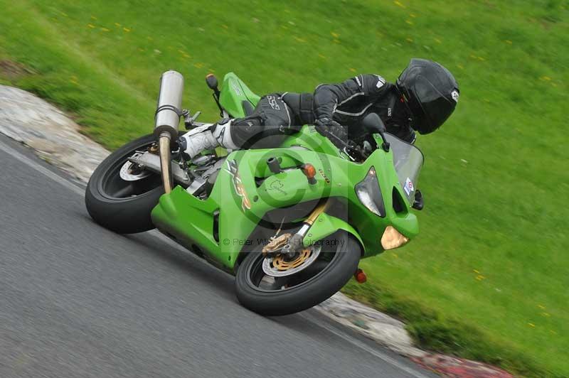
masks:
<path id="1" fill-rule="evenodd" d="M 233 73 L 220 89 L 212 75 L 206 81 L 223 117 L 245 117 L 260 99 Z M 176 145 L 179 120 L 203 124 L 181 109 L 182 87 L 178 72 L 165 72 L 154 134 L 113 152 L 90 178 L 87 210 L 103 227 L 158 228 L 234 274 L 240 303 L 264 315 L 317 305 L 354 274 L 364 281 L 360 259 L 418 234 L 422 153 L 387 134 L 376 114 L 364 120 L 373 139 L 356 148 L 305 125 L 279 148 L 188 161 Z"/>

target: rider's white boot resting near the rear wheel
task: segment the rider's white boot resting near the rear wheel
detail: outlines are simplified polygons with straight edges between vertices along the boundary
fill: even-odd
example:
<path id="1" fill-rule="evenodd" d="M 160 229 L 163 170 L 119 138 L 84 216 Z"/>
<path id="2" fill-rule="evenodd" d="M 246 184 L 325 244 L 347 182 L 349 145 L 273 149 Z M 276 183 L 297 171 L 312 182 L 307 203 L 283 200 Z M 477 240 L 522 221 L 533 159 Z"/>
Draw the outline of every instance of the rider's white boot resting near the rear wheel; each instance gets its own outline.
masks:
<path id="1" fill-rule="evenodd" d="M 191 129 L 178 139 L 181 151 L 193 158 L 203 150 L 211 150 L 218 146 L 230 150 L 238 149 L 239 147 L 231 139 L 230 129 L 232 121 L 233 119 L 223 119 L 217 124 L 204 124 Z"/>

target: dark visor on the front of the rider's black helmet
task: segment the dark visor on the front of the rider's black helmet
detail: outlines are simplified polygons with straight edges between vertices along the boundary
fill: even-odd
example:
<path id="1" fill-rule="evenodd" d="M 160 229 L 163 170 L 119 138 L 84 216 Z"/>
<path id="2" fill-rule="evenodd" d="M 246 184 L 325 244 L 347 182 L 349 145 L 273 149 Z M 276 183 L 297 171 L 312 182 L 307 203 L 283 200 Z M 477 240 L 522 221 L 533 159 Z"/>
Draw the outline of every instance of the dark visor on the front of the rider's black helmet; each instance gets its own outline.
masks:
<path id="1" fill-rule="evenodd" d="M 457 103 L 448 99 L 423 76 L 417 77 L 413 86 L 415 92 L 415 107 L 420 107 L 422 114 L 415 114 L 413 129 L 420 134 L 429 134 L 438 129 L 450 114 Z"/>

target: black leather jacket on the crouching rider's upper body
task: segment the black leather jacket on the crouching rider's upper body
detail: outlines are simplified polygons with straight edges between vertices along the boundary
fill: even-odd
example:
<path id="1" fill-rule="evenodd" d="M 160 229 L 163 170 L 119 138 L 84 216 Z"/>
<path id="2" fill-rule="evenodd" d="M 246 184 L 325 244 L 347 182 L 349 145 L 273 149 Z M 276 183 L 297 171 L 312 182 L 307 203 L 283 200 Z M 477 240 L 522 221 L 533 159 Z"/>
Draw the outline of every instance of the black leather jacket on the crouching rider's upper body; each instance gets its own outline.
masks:
<path id="1" fill-rule="evenodd" d="M 366 136 L 361 121 L 369 113 L 378 114 L 390 134 L 409 143 L 415 141 L 408 108 L 395 85 L 379 75 L 358 75 L 339 84 L 321 84 L 314 90 L 312 107 L 315 119 L 334 119 L 355 141 Z"/>

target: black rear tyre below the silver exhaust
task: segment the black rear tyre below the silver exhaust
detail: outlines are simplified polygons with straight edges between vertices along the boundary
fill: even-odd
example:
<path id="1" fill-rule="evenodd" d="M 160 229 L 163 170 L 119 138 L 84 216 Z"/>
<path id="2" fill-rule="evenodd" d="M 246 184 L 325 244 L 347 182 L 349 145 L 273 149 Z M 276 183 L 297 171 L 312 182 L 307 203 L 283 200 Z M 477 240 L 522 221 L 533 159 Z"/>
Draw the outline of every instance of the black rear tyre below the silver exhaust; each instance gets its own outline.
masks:
<path id="1" fill-rule="evenodd" d="M 150 212 L 164 194 L 160 176 L 152 173 L 138 181 L 123 180 L 121 183 L 119 169 L 134 151 L 147 148 L 155 140 L 150 134 L 125 144 L 107 156 L 91 175 L 85 191 L 85 205 L 89 215 L 102 227 L 119 234 L 154 229 Z M 121 184 L 125 185 L 123 193 L 127 196 L 115 197 L 110 188 Z M 139 185 L 132 188 L 135 194 L 128 194 L 128 185 Z"/>

